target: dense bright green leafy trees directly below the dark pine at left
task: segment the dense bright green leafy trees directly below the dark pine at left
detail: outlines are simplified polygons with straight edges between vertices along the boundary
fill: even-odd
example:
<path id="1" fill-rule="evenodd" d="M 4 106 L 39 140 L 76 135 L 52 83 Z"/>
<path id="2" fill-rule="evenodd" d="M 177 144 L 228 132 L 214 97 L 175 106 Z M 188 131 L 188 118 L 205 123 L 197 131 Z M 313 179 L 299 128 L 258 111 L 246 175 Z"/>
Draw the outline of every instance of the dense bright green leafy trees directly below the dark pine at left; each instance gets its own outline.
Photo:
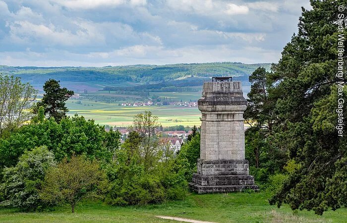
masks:
<path id="1" fill-rule="evenodd" d="M 78 115 L 63 118 L 60 123 L 51 118 L 28 124 L 8 138 L 0 139 L 0 166 L 13 167 L 24 151 L 43 145 L 55 154 L 57 161 L 75 153 L 110 162 L 119 147 L 119 134 L 106 132 L 94 120 L 85 120 Z"/>

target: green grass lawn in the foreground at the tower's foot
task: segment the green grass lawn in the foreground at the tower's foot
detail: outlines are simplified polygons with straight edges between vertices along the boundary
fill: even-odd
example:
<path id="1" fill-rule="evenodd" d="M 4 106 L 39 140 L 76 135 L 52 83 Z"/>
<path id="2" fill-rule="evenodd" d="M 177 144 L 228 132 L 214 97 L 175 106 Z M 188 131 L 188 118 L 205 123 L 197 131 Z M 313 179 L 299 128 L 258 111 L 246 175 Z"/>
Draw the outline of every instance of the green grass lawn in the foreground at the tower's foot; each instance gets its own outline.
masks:
<path id="1" fill-rule="evenodd" d="M 74 214 L 68 206 L 47 213 L 20 213 L 0 209 L 0 222 L 176 222 L 155 216 L 171 216 L 220 223 L 249 222 L 347 222 L 347 209 L 292 212 L 288 206 L 270 206 L 268 193 L 190 194 L 184 201 L 161 205 L 111 207 L 97 202 L 81 202 Z"/>

